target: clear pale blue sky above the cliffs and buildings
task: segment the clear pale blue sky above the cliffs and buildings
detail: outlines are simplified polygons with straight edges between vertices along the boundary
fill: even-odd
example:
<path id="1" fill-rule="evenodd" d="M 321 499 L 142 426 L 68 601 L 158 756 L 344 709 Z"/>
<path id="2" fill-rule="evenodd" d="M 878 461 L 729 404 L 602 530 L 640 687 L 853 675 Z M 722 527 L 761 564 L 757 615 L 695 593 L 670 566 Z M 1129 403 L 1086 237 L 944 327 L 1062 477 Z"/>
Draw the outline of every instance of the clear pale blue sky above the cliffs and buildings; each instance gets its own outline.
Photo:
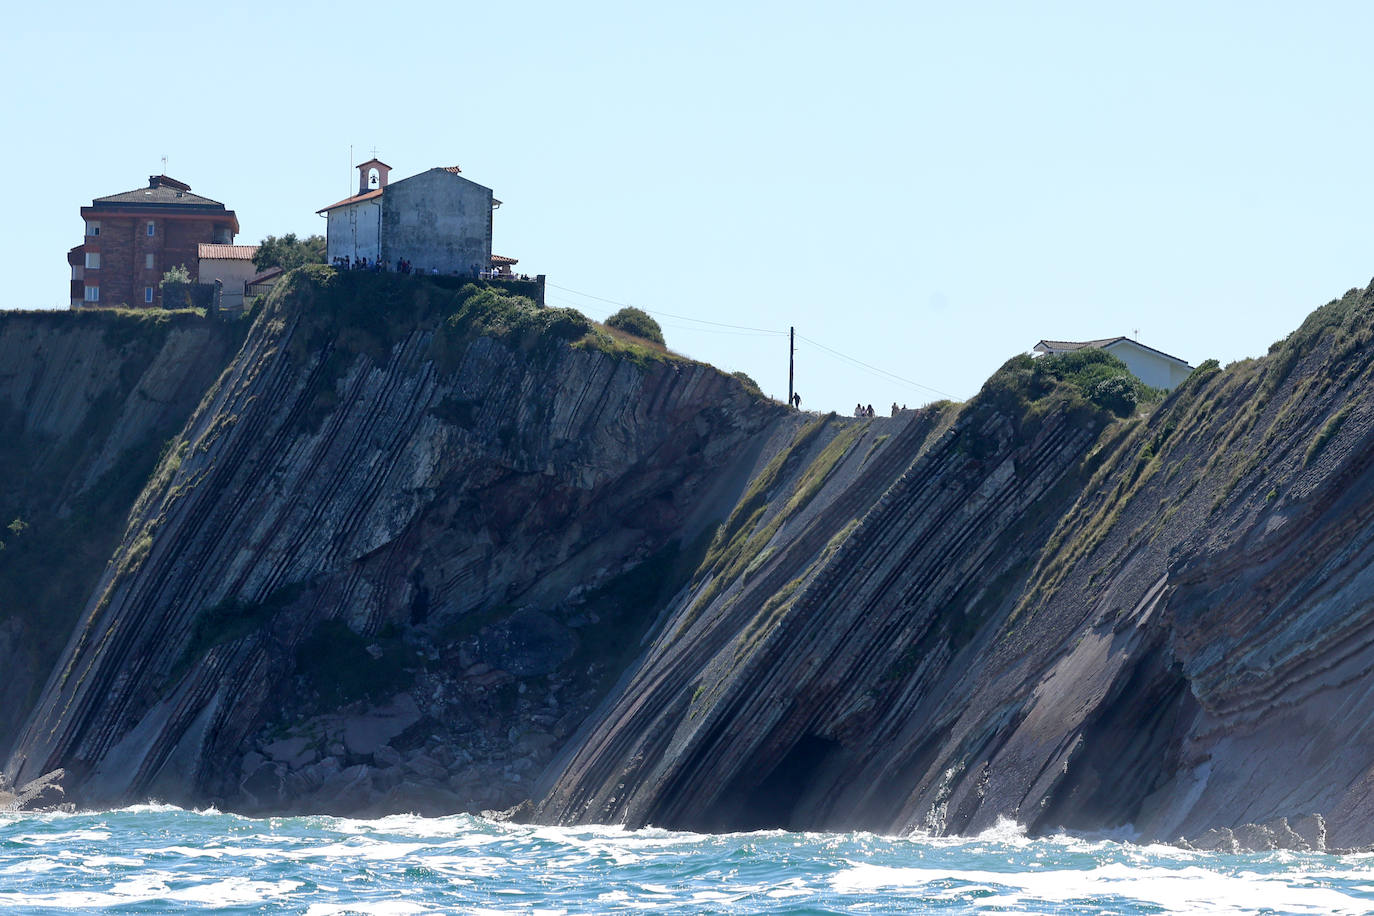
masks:
<path id="1" fill-rule="evenodd" d="M 1260 356 L 1374 273 L 1374 5 L 26 4 L 0 33 L 0 308 L 162 170 L 239 243 L 352 162 L 459 165 L 550 305 L 805 409 L 977 393 L 1043 338 Z M 18 172 L 23 170 L 23 176 Z"/>

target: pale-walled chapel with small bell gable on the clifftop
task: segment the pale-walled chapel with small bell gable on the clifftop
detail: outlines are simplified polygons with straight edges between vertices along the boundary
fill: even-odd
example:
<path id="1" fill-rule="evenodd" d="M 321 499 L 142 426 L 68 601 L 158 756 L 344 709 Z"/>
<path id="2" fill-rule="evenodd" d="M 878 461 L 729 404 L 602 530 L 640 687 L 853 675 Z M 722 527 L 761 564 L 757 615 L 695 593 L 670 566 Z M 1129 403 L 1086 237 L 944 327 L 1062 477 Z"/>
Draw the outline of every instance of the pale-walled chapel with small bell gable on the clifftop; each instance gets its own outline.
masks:
<path id="1" fill-rule="evenodd" d="M 492 190 L 469 181 L 458 166 L 436 168 L 390 183 L 392 166 L 357 166 L 357 194 L 319 210 L 328 218 L 328 260 L 405 260 L 416 272 L 471 273 L 492 264 Z"/>

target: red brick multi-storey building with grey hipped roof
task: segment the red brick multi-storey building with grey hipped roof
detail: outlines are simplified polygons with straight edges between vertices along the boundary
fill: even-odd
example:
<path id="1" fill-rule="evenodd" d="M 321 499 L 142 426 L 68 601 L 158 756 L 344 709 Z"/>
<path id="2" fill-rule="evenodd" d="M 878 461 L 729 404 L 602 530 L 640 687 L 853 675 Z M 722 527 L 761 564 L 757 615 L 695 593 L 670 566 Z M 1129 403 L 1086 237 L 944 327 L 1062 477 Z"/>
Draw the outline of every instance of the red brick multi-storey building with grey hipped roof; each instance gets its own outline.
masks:
<path id="1" fill-rule="evenodd" d="M 85 240 L 67 253 L 71 308 L 162 304 L 162 275 L 185 265 L 199 279 L 199 246 L 232 244 L 239 231 L 234 210 L 191 194 L 191 185 L 165 174 L 148 187 L 96 198 L 81 207 Z"/>

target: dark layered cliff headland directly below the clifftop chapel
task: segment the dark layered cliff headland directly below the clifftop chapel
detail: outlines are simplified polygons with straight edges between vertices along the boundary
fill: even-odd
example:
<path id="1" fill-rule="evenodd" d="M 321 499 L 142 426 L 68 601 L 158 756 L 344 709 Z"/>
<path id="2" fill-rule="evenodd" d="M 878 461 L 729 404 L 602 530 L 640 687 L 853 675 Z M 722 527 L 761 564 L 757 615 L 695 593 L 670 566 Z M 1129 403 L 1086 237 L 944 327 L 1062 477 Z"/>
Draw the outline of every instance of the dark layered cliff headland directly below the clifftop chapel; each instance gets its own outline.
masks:
<path id="1" fill-rule="evenodd" d="M 587 328 L 294 275 L 135 505 L 10 777 L 60 765 L 82 803 L 518 801 L 716 478 L 790 422 L 709 367 L 572 346 Z"/>

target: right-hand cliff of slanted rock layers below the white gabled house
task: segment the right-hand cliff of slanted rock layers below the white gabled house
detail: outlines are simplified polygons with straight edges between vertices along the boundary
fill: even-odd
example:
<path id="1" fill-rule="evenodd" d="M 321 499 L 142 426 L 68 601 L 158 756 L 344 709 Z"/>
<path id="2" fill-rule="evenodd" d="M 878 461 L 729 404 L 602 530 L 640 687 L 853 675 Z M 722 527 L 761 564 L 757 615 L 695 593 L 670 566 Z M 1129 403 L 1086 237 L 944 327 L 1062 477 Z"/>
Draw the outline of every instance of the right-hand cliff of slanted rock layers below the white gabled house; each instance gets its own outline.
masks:
<path id="1" fill-rule="evenodd" d="M 993 379 L 772 599 L 703 578 L 537 816 L 1370 843 L 1371 314 L 1128 422 Z"/>

